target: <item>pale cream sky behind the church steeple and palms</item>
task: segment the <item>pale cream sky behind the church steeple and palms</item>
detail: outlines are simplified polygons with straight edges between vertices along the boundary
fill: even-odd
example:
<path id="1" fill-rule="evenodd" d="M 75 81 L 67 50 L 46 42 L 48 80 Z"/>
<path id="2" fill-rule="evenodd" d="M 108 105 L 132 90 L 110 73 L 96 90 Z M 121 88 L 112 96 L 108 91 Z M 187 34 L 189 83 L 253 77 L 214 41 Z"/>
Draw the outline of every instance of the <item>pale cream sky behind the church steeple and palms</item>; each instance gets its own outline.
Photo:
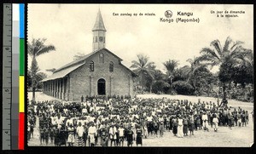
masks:
<path id="1" fill-rule="evenodd" d="M 41 71 L 50 75 L 46 69 L 66 65 L 73 61 L 75 54 L 92 52 L 91 30 L 98 9 L 107 29 L 106 48 L 118 55 L 128 67 L 132 60 L 137 60 L 137 54 L 148 55 L 149 61 L 163 72 L 165 67 L 162 63 L 166 60 L 178 60 L 179 67 L 186 66 L 189 65 L 186 60 L 199 56 L 201 48 L 211 48 L 210 43 L 216 39 L 224 44 L 227 37 L 243 42 L 244 48 L 253 49 L 253 5 L 33 3 L 28 4 L 28 42 L 32 38 L 47 38 L 45 44 L 56 48 L 38 56 Z M 169 19 L 174 22 L 160 22 L 160 18 L 166 19 L 166 10 L 172 11 Z M 225 10 L 244 11 L 245 14 L 232 18 L 217 17 L 217 11 Z M 182 16 L 178 12 L 193 15 Z M 145 15 L 147 13 L 154 15 Z M 177 23 L 177 18 L 195 18 L 199 23 Z M 28 57 L 28 67 L 30 64 Z M 217 70 L 213 68 L 212 71 Z"/>

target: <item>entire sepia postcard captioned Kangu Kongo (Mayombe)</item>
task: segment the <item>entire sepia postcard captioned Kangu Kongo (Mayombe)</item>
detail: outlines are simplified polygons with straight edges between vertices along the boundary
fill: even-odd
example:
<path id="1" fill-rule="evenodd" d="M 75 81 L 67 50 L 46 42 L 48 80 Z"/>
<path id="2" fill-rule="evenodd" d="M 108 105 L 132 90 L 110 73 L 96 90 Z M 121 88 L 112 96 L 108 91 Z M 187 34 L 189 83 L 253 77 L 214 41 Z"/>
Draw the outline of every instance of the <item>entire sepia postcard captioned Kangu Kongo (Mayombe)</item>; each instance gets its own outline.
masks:
<path id="1" fill-rule="evenodd" d="M 27 146 L 251 147 L 253 5 L 27 4 Z"/>

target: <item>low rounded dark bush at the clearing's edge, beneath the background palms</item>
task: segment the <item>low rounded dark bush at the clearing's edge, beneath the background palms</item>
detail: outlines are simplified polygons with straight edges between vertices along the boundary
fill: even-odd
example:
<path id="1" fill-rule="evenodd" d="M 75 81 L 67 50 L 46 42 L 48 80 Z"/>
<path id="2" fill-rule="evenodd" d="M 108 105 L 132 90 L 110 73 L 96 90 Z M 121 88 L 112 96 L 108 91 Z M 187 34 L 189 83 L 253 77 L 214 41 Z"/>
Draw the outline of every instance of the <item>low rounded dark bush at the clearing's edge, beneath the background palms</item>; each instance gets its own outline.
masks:
<path id="1" fill-rule="evenodd" d="M 172 83 L 172 88 L 177 92 L 177 94 L 191 95 L 195 91 L 195 89 L 189 83 L 184 81 Z"/>

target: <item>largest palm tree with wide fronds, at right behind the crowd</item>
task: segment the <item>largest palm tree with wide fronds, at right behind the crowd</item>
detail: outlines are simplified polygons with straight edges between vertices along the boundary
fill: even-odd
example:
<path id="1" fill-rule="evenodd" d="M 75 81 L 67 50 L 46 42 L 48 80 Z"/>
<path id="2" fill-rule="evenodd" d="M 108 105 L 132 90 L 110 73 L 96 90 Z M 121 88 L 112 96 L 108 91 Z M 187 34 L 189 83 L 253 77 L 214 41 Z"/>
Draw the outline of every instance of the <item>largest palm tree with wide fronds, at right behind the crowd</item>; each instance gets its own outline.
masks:
<path id="1" fill-rule="evenodd" d="M 224 47 L 222 48 L 220 42 L 212 41 L 210 46 L 213 48 L 202 48 L 201 56 L 198 61 L 203 62 L 207 66 L 219 66 L 218 78 L 223 87 L 223 103 L 227 105 L 226 83 L 232 80 L 232 68 L 240 65 L 242 59 L 247 56 L 247 50 L 241 47 L 241 42 L 233 42 L 230 37 L 227 37 Z"/>

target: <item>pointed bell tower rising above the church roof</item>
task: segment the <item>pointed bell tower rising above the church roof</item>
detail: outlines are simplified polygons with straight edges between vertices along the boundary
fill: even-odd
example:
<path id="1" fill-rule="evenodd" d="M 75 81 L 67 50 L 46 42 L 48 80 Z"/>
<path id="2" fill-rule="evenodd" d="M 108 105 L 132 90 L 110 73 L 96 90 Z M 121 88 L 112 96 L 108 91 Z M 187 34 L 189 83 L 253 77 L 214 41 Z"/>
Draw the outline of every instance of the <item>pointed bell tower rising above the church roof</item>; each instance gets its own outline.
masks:
<path id="1" fill-rule="evenodd" d="M 102 20 L 101 10 L 99 9 L 95 25 L 92 29 L 93 32 L 93 51 L 105 48 L 106 43 L 106 29 Z"/>

